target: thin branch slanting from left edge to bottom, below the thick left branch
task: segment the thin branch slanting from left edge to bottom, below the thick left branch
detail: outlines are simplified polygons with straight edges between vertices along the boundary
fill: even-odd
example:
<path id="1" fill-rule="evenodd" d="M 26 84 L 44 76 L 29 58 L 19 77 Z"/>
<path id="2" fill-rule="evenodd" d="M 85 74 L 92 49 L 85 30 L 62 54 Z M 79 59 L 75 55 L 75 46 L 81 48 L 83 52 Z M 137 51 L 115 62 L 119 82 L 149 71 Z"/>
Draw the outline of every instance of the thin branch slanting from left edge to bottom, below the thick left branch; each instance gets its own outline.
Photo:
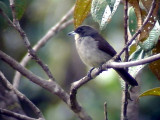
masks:
<path id="1" fill-rule="evenodd" d="M 33 110 L 33 112 L 35 113 L 35 115 L 38 118 L 44 119 L 41 111 L 25 95 L 23 95 L 21 92 L 19 92 L 17 89 L 15 89 L 12 86 L 12 84 L 6 79 L 6 77 L 3 75 L 3 73 L 1 71 L 0 71 L 0 78 L 2 78 L 1 80 L 3 81 L 3 83 L 7 87 L 7 89 L 14 91 L 20 100 L 25 101 L 30 106 L 30 108 Z"/>

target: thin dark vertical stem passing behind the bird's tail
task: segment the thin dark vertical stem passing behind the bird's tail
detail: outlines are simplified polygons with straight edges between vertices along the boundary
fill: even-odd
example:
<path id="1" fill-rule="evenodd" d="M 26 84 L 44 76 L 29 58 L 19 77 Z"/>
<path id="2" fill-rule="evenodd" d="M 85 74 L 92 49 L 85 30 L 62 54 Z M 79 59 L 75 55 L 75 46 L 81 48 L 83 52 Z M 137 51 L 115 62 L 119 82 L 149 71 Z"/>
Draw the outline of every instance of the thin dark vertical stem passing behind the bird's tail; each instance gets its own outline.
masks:
<path id="1" fill-rule="evenodd" d="M 125 45 L 128 42 L 128 0 L 124 0 L 124 40 L 125 40 Z M 125 50 L 125 62 L 128 62 L 128 58 L 129 58 L 129 52 L 128 52 L 128 48 Z M 126 68 L 126 71 L 128 71 L 128 69 Z M 127 107 L 128 107 L 128 84 L 125 82 L 125 86 L 124 86 L 124 90 L 122 91 L 124 92 L 122 95 L 122 120 L 128 120 L 127 117 Z"/>

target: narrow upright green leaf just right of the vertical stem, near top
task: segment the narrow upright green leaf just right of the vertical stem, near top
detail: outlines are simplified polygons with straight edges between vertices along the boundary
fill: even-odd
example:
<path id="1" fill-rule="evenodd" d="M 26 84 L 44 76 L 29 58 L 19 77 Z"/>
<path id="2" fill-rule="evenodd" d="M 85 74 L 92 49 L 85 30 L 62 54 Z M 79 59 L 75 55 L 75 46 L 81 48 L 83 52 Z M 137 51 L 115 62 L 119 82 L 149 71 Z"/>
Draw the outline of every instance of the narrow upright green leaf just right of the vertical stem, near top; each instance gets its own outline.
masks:
<path id="1" fill-rule="evenodd" d="M 134 33 L 137 30 L 137 18 L 133 7 L 129 8 L 128 14 L 129 14 L 129 31 L 131 35 L 134 35 Z"/>

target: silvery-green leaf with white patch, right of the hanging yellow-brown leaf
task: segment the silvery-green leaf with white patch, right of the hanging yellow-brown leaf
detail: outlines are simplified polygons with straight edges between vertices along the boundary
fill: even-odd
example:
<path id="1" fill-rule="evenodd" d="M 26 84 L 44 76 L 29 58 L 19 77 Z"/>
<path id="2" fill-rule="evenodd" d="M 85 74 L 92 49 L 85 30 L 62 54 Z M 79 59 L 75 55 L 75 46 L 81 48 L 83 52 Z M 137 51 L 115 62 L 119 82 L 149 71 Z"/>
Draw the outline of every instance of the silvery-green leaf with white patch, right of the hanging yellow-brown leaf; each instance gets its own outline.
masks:
<path id="1" fill-rule="evenodd" d="M 120 0 L 93 0 L 91 14 L 93 19 L 99 23 L 100 29 L 104 29 L 111 20 L 119 6 Z"/>

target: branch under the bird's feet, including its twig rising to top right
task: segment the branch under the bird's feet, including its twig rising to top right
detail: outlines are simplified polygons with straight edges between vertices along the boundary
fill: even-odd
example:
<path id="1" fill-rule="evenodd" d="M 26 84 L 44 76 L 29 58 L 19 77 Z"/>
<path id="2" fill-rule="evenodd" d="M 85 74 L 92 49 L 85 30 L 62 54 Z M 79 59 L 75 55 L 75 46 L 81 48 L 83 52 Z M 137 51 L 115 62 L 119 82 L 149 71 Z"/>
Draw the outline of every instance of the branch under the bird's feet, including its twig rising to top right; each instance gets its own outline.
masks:
<path id="1" fill-rule="evenodd" d="M 122 49 L 122 51 L 120 53 L 118 53 L 115 57 L 119 58 L 121 56 L 121 54 L 128 48 L 128 46 L 133 42 L 133 40 L 142 32 L 143 27 L 147 24 L 150 16 L 153 13 L 155 7 L 155 0 L 153 0 L 152 2 L 152 6 L 149 10 L 149 13 L 143 23 L 143 25 L 137 30 L 137 32 L 133 35 L 132 39 L 130 41 L 127 42 L 127 44 L 125 45 L 125 47 Z M 146 64 L 148 62 L 153 62 L 155 60 L 160 59 L 160 54 L 157 56 L 152 56 L 149 57 L 148 59 L 143 59 L 143 60 L 138 60 L 136 62 L 107 62 L 107 64 L 103 64 L 102 69 L 101 70 L 96 70 L 92 72 L 93 76 L 92 78 L 89 78 L 87 76 L 85 76 L 84 78 L 72 83 L 71 85 L 71 89 L 70 89 L 70 101 L 71 101 L 71 107 L 72 109 L 78 109 L 76 108 L 77 106 L 77 98 L 76 98 L 76 94 L 77 94 L 77 90 L 84 85 L 85 83 L 87 83 L 88 81 L 92 80 L 93 78 L 95 78 L 97 75 L 99 75 L 102 71 L 106 70 L 106 68 L 124 68 L 124 67 L 130 67 L 130 66 L 136 66 L 136 65 L 140 65 L 140 64 Z"/>

